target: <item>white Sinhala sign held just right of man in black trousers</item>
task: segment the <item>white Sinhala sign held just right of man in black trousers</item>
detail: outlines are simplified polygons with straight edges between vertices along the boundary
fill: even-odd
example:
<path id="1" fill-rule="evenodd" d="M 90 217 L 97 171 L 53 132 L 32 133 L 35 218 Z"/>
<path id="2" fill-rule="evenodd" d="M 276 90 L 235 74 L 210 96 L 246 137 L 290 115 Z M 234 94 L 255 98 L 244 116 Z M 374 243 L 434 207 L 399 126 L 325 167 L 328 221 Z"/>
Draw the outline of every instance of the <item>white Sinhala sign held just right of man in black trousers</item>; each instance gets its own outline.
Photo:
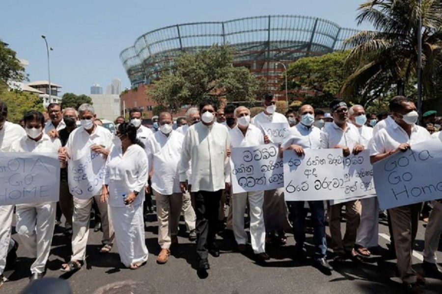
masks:
<path id="1" fill-rule="evenodd" d="M 233 193 L 264 191 L 284 186 L 282 159 L 276 144 L 234 147 L 230 155 Z"/>

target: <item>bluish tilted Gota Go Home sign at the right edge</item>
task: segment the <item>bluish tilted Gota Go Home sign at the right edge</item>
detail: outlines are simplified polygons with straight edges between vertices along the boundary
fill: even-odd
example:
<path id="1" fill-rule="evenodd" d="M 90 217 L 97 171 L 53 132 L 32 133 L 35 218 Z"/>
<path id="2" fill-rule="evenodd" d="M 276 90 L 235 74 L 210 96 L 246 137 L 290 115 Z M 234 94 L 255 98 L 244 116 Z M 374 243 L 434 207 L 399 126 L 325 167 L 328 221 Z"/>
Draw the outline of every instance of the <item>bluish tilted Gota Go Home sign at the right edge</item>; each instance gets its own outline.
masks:
<path id="1" fill-rule="evenodd" d="M 381 209 L 442 199 L 442 144 L 429 140 L 373 165 Z"/>

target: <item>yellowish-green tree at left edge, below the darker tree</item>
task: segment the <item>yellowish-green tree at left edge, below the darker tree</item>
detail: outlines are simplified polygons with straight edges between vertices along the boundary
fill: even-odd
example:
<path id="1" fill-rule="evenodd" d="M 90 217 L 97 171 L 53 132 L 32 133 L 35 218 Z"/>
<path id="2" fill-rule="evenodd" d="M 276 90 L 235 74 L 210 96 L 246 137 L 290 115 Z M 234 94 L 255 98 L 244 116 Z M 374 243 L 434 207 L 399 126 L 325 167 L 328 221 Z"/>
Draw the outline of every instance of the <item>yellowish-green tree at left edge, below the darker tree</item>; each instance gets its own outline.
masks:
<path id="1" fill-rule="evenodd" d="M 45 111 L 42 98 L 20 90 L 3 91 L 0 100 L 8 107 L 7 119 L 12 123 L 19 123 L 29 110 Z"/>

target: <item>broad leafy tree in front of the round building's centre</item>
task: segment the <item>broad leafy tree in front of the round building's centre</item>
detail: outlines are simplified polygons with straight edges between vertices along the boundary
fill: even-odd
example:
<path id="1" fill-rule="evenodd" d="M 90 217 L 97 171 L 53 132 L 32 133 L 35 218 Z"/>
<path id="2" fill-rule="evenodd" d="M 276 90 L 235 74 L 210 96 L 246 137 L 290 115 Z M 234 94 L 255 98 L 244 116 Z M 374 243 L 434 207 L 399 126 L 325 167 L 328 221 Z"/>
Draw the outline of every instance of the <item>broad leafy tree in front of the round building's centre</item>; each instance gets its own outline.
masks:
<path id="1" fill-rule="evenodd" d="M 233 66 L 233 52 L 214 45 L 197 53 L 175 58 L 170 71 L 160 76 L 146 92 L 158 104 L 176 111 L 181 105 L 195 105 L 210 96 L 227 101 L 255 99 L 256 78 L 243 67 Z"/>

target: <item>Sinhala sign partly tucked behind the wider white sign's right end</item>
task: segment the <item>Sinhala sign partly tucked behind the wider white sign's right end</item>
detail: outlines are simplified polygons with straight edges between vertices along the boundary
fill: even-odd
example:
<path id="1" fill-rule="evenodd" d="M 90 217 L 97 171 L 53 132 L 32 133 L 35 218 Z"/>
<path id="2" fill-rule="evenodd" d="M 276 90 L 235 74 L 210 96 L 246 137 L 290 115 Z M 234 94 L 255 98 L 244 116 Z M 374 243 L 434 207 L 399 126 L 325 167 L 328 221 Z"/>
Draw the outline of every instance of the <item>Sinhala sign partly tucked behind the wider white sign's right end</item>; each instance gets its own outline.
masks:
<path id="1" fill-rule="evenodd" d="M 330 204 L 338 204 L 349 200 L 357 200 L 376 194 L 373 183 L 373 166 L 370 163 L 370 150 L 362 150 L 358 155 L 350 154 L 343 157 L 344 178 L 348 184 L 345 200 L 336 199 Z M 348 193 L 347 193 L 348 192 Z M 372 197 L 372 196 L 369 196 Z"/>

